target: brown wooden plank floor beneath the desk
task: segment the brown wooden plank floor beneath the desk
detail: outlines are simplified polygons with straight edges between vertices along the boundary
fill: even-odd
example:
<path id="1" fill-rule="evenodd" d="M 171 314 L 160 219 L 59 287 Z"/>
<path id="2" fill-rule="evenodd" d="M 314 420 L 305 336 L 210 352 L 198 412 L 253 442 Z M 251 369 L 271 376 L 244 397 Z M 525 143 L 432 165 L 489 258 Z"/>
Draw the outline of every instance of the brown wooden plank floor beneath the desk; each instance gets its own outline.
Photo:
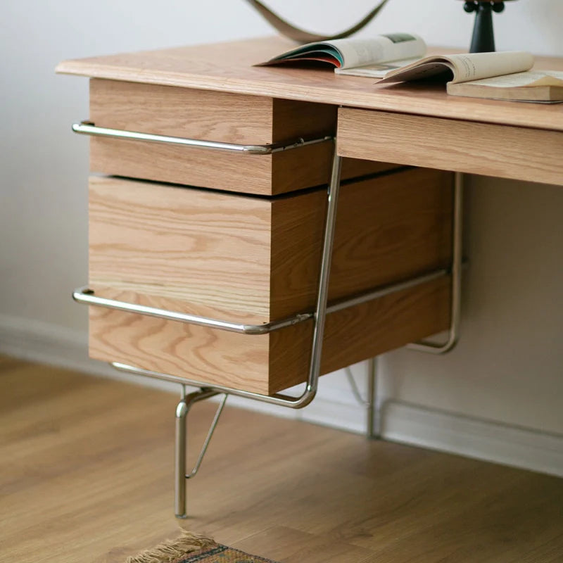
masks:
<path id="1" fill-rule="evenodd" d="M 562 479 L 229 407 L 177 521 L 175 403 L 0 358 L 1 562 L 123 562 L 179 524 L 286 563 L 563 561 Z"/>

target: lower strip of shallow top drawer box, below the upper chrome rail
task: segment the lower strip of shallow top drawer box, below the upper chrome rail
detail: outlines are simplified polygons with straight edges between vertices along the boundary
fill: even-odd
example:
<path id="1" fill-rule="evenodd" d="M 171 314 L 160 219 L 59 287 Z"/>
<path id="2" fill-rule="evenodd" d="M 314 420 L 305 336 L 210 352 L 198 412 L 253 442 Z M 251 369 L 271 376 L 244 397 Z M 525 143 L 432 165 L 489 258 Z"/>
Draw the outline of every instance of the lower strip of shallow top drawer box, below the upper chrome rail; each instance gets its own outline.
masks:
<path id="1" fill-rule="evenodd" d="M 332 153 L 330 141 L 260 156 L 93 137 L 90 169 L 110 175 L 270 196 L 328 184 Z M 396 167 L 369 160 L 347 160 L 342 177 Z"/>

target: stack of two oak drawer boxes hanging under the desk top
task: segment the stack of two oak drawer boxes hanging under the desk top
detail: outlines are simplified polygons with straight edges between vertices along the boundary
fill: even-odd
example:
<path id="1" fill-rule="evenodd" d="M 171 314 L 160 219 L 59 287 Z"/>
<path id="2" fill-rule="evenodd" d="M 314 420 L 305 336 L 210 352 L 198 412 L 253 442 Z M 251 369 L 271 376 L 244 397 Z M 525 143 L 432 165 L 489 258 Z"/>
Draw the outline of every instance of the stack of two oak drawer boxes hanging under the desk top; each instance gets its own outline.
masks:
<path id="1" fill-rule="evenodd" d="M 269 154 L 92 137 L 89 288 L 96 296 L 243 324 L 312 312 L 336 108 L 91 80 L 96 127 Z M 448 267 L 452 175 L 345 160 L 329 303 Z M 332 312 L 322 373 L 448 327 L 449 280 Z M 312 320 L 249 335 L 90 307 L 90 355 L 272 394 L 305 381 Z"/>

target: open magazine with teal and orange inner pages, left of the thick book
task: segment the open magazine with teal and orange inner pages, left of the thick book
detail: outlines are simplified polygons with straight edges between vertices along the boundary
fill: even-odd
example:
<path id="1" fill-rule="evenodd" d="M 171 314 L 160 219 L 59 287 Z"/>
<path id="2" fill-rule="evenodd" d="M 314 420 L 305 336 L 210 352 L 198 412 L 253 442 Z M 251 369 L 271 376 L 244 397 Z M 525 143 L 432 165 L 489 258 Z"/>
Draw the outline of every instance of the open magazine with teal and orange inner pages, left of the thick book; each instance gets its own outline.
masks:
<path id="1" fill-rule="evenodd" d="M 369 39 L 309 43 L 257 66 L 316 61 L 334 66 L 338 74 L 381 78 L 389 70 L 419 61 L 425 54 L 426 44 L 419 35 L 390 33 Z"/>

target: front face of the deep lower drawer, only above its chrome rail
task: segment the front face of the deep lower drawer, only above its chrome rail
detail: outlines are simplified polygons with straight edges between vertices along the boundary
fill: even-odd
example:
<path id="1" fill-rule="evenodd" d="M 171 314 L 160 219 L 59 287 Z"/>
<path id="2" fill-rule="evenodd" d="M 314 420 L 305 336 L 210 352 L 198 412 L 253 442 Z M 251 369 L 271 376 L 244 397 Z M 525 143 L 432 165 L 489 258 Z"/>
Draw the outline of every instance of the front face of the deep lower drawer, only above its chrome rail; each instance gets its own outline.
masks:
<path id="1" fill-rule="evenodd" d="M 106 177 L 91 177 L 89 191 L 96 293 L 235 322 L 269 320 L 270 201 Z"/>

